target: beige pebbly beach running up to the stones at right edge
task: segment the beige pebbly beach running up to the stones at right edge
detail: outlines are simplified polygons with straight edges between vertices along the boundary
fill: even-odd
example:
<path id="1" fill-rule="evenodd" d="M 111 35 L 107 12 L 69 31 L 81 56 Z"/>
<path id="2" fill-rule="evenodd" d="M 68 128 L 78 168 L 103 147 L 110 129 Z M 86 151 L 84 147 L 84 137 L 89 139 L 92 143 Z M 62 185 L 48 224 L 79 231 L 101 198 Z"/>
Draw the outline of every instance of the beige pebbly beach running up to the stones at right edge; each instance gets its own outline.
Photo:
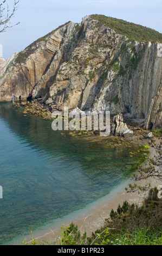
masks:
<path id="1" fill-rule="evenodd" d="M 142 168 L 148 169 L 151 166 L 151 169 L 147 174 L 151 174 L 152 169 L 157 169 L 159 173 L 162 173 L 162 161 L 161 161 L 161 152 L 162 152 L 162 139 L 154 138 L 150 145 L 150 158 L 154 159 L 154 164 L 150 162 L 150 159 L 147 159 L 145 163 L 142 165 Z M 138 175 L 141 176 L 141 173 Z M 142 205 L 144 199 L 148 196 L 148 192 L 151 188 L 158 187 L 162 185 L 162 179 L 157 176 L 148 176 L 147 178 L 141 176 L 138 178 L 134 177 L 131 181 L 131 184 L 136 184 L 136 188 L 126 191 L 126 188 L 122 188 L 119 191 L 116 191 L 114 196 L 102 203 L 102 205 L 96 204 L 96 208 L 93 210 L 89 210 L 89 213 L 84 217 L 80 218 L 80 220 L 73 220 L 73 222 L 78 226 L 81 234 L 83 234 L 86 230 L 88 236 L 92 235 L 97 229 L 100 229 L 104 224 L 107 218 L 110 218 L 111 210 L 116 210 L 118 205 L 122 205 L 125 201 L 129 204 L 137 204 L 139 206 Z M 129 184 L 128 184 L 129 185 Z M 145 188 L 145 189 L 143 189 Z M 65 223 L 65 227 L 67 228 L 70 224 L 67 220 L 62 219 L 62 224 Z M 59 237 L 61 235 L 61 226 L 56 229 L 49 229 L 49 232 L 36 237 L 36 242 L 38 244 L 42 244 L 42 241 L 46 241 L 49 243 L 57 243 Z M 30 244 L 30 242 L 29 242 Z"/>

